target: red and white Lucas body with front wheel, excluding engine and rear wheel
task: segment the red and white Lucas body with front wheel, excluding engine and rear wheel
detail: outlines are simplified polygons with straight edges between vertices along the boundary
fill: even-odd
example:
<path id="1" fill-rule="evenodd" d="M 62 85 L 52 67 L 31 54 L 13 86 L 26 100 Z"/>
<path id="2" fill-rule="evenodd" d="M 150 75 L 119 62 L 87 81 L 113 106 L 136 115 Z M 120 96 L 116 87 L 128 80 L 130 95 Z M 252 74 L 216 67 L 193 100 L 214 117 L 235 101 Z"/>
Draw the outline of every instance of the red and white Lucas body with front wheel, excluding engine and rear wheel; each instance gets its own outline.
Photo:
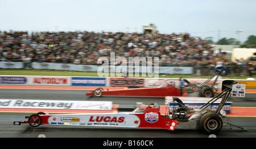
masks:
<path id="1" fill-rule="evenodd" d="M 148 105 L 146 109 L 135 109 L 129 113 L 104 114 L 48 114 L 37 113 L 14 125 L 28 123 L 32 127 L 39 125 L 72 125 L 72 126 L 104 126 L 104 127 L 138 127 L 174 130 L 177 121 L 162 117 L 157 104 Z"/>

